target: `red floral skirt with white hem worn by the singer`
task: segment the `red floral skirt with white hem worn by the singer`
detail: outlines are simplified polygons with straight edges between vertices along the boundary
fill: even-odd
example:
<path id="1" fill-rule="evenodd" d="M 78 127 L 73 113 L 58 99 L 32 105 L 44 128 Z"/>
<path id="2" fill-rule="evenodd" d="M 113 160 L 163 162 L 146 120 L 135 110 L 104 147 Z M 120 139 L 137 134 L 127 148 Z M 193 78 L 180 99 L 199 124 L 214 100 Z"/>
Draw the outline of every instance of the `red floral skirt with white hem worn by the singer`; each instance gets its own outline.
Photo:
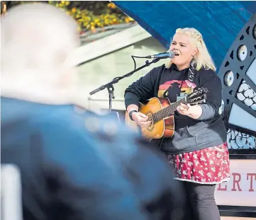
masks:
<path id="1" fill-rule="evenodd" d="M 218 184 L 230 179 L 227 143 L 183 154 L 168 154 L 177 180 Z"/>

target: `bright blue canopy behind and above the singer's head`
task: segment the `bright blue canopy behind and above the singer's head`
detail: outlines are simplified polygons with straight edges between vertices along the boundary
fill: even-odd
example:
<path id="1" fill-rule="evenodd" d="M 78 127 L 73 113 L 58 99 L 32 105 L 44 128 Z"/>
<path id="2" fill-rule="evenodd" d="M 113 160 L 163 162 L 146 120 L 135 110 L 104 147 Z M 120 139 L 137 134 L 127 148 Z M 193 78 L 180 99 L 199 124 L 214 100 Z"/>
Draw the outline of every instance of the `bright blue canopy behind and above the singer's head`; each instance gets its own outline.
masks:
<path id="1" fill-rule="evenodd" d="M 201 32 L 219 69 L 228 49 L 256 12 L 256 1 L 113 1 L 164 47 L 177 28 Z"/>

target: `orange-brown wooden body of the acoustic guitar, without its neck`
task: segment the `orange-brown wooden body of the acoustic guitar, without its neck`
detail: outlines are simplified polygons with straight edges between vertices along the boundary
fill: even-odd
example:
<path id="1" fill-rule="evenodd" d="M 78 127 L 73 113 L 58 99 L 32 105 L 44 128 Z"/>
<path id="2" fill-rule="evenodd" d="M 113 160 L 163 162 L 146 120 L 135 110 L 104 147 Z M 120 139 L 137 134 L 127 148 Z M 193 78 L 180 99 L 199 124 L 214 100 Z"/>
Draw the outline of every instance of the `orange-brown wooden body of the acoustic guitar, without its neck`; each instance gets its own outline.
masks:
<path id="1" fill-rule="evenodd" d="M 163 108 L 167 108 L 169 105 L 169 99 L 167 98 L 151 98 L 145 105 L 140 103 L 139 112 L 147 115 L 152 121 L 152 114 L 159 112 Z M 140 127 L 136 122 L 130 120 L 128 112 L 126 112 L 126 125 L 134 129 L 140 129 L 143 137 L 147 139 L 169 138 L 174 134 L 174 115 L 165 117 L 155 122 L 155 124 L 151 123 L 148 127 Z"/>

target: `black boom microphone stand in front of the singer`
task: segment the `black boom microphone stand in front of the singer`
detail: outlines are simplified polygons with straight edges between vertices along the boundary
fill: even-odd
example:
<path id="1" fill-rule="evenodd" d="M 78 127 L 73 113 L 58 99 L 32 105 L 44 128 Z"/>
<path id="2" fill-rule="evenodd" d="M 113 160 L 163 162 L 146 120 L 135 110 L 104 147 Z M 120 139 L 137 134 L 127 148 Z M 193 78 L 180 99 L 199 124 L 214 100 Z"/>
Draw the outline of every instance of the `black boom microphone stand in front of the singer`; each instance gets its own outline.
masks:
<path id="1" fill-rule="evenodd" d="M 111 108 L 112 108 L 112 100 L 115 98 L 115 96 L 113 95 L 113 91 L 114 91 L 114 88 L 113 88 L 113 83 L 118 83 L 119 80 L 123 79 L 123 78 L 126 78 L 128 76 L 131 76 L 133 75 L 136 71 L 139 71 L 140 69 L 143 69 L 145 68 L 146 66 L 150 66 L 150 64 L 152 63 L 156 63 L 160 60 L 160 58 L 156 58 L 156 59 L 153 59 L 152 62 L 149 62 L 148 60 L 145 61 L 145 64 L 143 66 L 140 66 L 138 67 L 137 69 L 133 70 L 133 71 L 130 71 L 130 73 L 126 74 L 126 75 L 123 75 L 123 76 L 117 76 L 116 78 L 114 78 L 112 81 L 110 81 L 109 83 L 106 83 L 102 86 L 99 86 L 99 88 L 96 88 L 94 89 L 94 91 L 91 91 L 89 94 L 90 95 L 93 95 L 95 93 L 98 93 L 99 91 L 101 90 L 104 90 L 104 88 L 107 88 L 108 89 L 108 99 L 109 99 L 109 108 L 108 108 L 108 111 L 109 113 L 111 113 Z"/>

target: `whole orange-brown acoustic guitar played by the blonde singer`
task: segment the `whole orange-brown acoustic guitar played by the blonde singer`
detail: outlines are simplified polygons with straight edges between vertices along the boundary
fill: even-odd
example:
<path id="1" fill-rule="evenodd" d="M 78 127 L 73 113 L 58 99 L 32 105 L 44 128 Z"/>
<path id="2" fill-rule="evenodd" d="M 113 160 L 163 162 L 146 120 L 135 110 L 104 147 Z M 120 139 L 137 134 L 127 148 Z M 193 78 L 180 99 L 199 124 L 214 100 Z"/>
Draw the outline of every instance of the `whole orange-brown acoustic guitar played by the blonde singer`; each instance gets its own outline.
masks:
<path id="1" fill-rule="evenodd" d="M 180 103 L 197 105 L 206 102 L 207 88 L 199 88 L 175 103 L 170 103 L 168 98 L 150 98 L 148 103 L 139 105 L 139 112 L 148 116 L 151 122 L 148 127 L 140 127 L 130 120 L 126 111 L 126 125 L 137 129 L 147 139 L 169 138 L 174 134 L 174 112 Z"/>

